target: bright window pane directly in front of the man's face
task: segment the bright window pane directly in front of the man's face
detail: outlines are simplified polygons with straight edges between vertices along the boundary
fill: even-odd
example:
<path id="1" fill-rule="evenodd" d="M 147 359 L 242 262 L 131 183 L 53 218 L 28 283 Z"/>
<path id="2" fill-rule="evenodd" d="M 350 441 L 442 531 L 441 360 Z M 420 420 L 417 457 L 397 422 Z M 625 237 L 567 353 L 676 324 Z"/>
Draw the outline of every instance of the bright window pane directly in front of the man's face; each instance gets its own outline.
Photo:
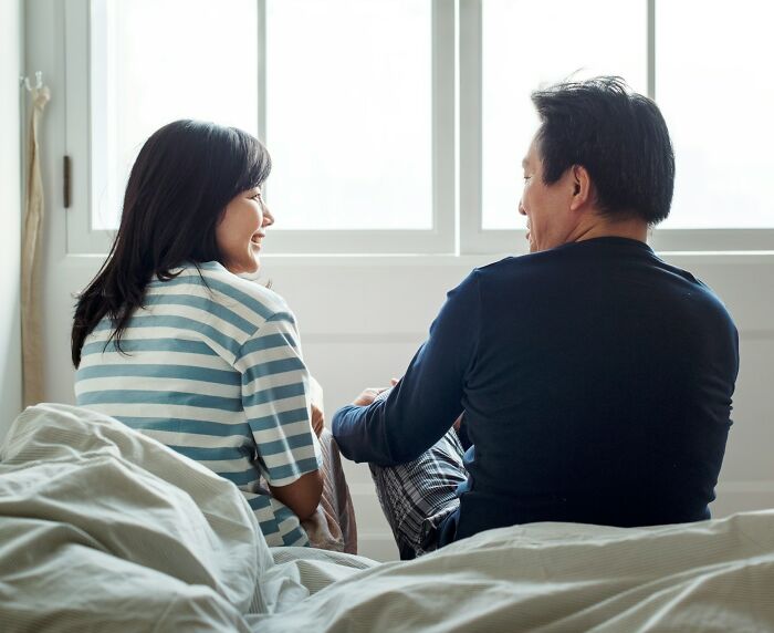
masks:
<path id="1" fill-rule="evenodd" d="M 521 162 L 538 123 L 530 93 L 576 73 L 572 79 L 620 75 L 645 94 L 647 2 L 485 0 L 482 6 L 482 225 L 523 228 Z"/>

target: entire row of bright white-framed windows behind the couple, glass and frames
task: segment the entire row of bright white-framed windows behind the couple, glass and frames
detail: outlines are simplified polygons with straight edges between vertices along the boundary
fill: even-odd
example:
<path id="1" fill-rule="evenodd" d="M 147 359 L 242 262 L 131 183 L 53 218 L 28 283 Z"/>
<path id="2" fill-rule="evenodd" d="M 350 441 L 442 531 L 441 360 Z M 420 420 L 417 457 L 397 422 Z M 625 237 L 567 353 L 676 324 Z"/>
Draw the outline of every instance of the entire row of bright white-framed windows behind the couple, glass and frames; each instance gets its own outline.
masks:
<path id="1" fill-rule="evenodd" d="M 128 169 L 168 121 L 262 138 L 269 253 L 524 252 L 530 92 L 619 74 L 655 96 L 677 183 L 657 249 L 774 248 L 766 3 L 64 0 L 67 250 L 106 252 Z"/>

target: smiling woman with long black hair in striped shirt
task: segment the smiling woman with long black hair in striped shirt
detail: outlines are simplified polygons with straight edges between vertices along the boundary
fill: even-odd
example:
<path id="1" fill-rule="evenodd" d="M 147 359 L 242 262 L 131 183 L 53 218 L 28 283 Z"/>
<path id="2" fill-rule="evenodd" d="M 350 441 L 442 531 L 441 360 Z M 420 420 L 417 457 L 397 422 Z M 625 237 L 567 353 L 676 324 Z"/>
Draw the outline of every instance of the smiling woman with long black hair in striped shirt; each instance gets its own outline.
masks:
<path id="1" fill-rule="evenodd" d="M 270 546 L 308 544 L 306 520 L 313 544 L 352 551 L 343 477 L 323 498 L 322 413 L 293 313 L 238 277 L 258 271 L 274 222 L 270 170 L 261 143 L 232 127 L 177 121 L 148 138 L 111 253 L 79 298 L 76 402 L 233 481 Z"/>

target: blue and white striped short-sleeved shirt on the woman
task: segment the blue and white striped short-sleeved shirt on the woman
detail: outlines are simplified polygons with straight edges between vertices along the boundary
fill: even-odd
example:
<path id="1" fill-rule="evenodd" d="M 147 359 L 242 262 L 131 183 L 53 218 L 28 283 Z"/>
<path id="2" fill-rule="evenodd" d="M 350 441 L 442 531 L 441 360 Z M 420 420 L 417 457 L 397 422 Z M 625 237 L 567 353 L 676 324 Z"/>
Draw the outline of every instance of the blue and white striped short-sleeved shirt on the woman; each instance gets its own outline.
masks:
<path id="1" fill-rule="evenodd" d="M 264 485 L 322 466 L 295 319 L 271 290 L 217 262 L 200 269 L 148 284 L 122 335 L 124 353 L 103 319 L 81 352 L 76 402 L 236 484 L 270 546 L 308 544 Z"/>

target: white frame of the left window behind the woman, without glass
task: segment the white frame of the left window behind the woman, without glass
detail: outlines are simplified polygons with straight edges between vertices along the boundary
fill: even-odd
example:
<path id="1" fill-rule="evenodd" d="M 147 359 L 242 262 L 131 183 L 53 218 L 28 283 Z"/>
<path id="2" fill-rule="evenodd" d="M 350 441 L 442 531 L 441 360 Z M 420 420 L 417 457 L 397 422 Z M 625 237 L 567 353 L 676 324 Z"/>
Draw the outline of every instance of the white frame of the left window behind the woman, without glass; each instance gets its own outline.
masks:
<path id="1" fill-rule="evenodd" d="M 259 38 L 258 133 L 265 138 L 265 0 L 255 0 Z M 454 22 L 456 6 L 431 0 L 432 51 L 432 228 L 429 230 L 282 230 L 272 229 L 274 253 L 454 253 L 456 126 Z M 106 253 L 115 231 L 92 228 L 92 113 L 90 83 L 90 0 L 64 0 L 63 30 L 66 73 L 65 152 L 71 158 L 71 208 L 67 209 L 67 252 Z M 268 139 L 271 145 L 271 141 Z M 271 201 L 271 178 L 268 181 Z"/>

